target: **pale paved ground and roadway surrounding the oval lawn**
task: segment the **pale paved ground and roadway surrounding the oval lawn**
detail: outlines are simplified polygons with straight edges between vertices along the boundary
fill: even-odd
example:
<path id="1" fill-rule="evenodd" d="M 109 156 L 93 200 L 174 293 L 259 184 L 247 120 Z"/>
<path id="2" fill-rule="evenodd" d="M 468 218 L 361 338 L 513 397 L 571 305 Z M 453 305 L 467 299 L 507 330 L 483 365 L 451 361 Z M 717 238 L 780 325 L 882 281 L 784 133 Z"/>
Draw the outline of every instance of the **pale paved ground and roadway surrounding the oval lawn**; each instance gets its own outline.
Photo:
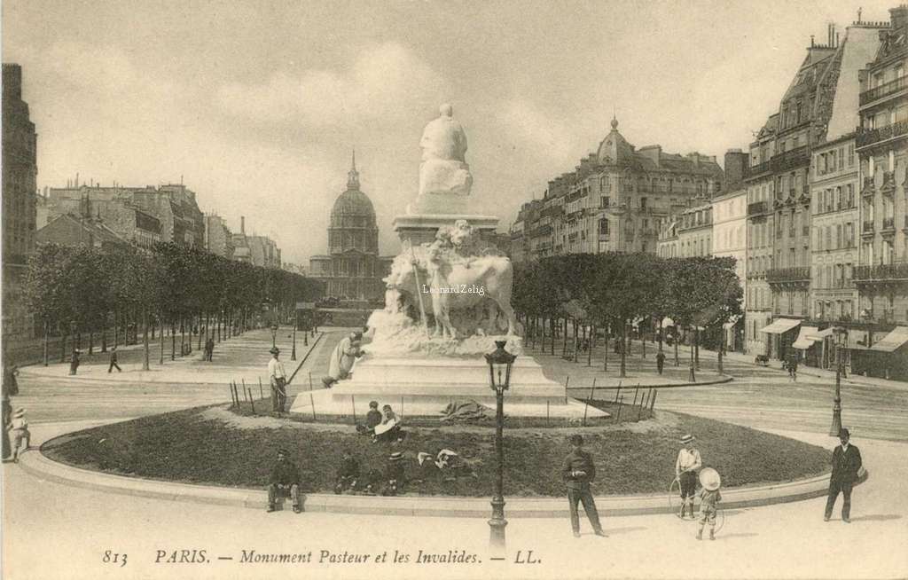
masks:
<path id="1" fill-rule="evenodd" d="M 308 388 L 310 372 L 314 378 L 321 376 L 331 349 L 346 332 L 323 330 L 321 340 L 315 343 L 291 384 L 291 392 Z M 241 369 L 252 371 L 262 360 L 267 361 L 267 356 L 262 357 L 258 350 L 263 349 L 267 355 L 270 332 L 252 332 L 242 338 L 242 343 L 241 338 L 236 340 L 237 353 L 244 354 L 237 357 L 235 366 L 224 361 L 225 368 L 239 376 Z M 300 359 L 305 352 L 298 352 Z M 601 369 L 587 369 L 582 362 L 528 352 L 527 356 L 531 355 L 551 378 L 569 373 L 571 381 L 589 385 L 595 373 L 602 376 Z M 115 381 L 105 377 L 88 380 L 90 374 L 78 381 L 64 376 L 30 380 L 33 375 L 25 370 L 23 392 L 14 399 L 14 405 L 34 409 L 30 410 L 33 428 L 40 440 L 47 434 L 64 432 L 67 426 L 84 427 L 86 422 L 101 424 L 225 402 L 226 389 L 217 382 L 181 382 L 192 373 L 200 374 L 192 370 L 198 364 L 201 361 L 169 363 L 174 370 L 173 382 L 136 381 L 125 368 L 122 379 Z M 290 370 L 291 363 L 286 364 Z M 644 373 L 648 363 L 637 360 L 634 364 L 637 367 L 632 366 L 629 374 Z M 608 375 L 614 377 L 617 367 L 611 366 L 611 360 L 609 365 Z M 701 365 L 707 372 L 715 361 L 701 352 Z M 186 367 L 180 370 L 183 374 L 175 372 L 178 367 Z M 168 370 L 165 365 L 159 372 Z M 826 435 L 832 407 L 832 383 L 828 377 L 802 373 L 797 383 L 791 383 L 779 369 L 756 368 L 734 358 L 726 359 L 725 372 L 733 377 L 731 382 L 661 389 L 656 408 L 761 428 L 827 448 L 834 446 L 834 439 Z M 217 372 L 212 376 L 217 376 Z M 908 506 L 903 501 L 903 482 L 908 478 L 908 388 L 886 382 L 852 378 L 843 386 L 844 424 L 852 428 L 854 443 L 861 447 L 871 474 L 854 491 L 850 525 L 838 519 L 837 511 L 833 521 L 824 523 L 824 499 L 815 498 L 726 510 L 725 523 L 715 542 L 697 542 L 696 525 L 674 516 L 608 517 L 607 538 L 593 536 L 583 522 L 584 535 L 576 539 L 570 534 L 565 505 L 563 518 L 512 518 L 508 524 L 508 557 L 505 561 L 492 561 L 488 551 L 489 526 L 481 518 L 324 513 L 295 516 L 289 510 L 266 514 L 264 510 L 67 486 L 30 475 L 21 466 L 5 464 L 4 575 L 13 579 L 62 575 L 347 578 L 374 574 L 384 569 L 380 566 L 388 566 L 393 568 L 389 573 L 400 578 L 900 577 L 908 573 L 908 555 L 892 547 L 908 545 Z M 671 469 L 666 466 L 666 481 Z M 607 494 L 608 490 L 597 489 L 597 493 Z M 887 541 L 879 542 L 880 537 Z M 48 548 L 35 550 L 35 546 Z M 848 546 L 848 550 L 842 546 Z M 125 553 L 127 564 L 122 568 L 105 564 L 108 550 L 110 554 Z M 183 550 L 185 558 L 200 563 L 166 563 L 174 551 L 179 560 Z M 244 561 L 255 559 L 253 550 L 260 556 L 304 557 L 310 552 L 311 556 L 309 562 L 295 565 Z M 376 565 L 374 558 L 386 551 L 388 564 Z M 392 563 L 395 551 L 401 560 L 406 555 L 409 562 Z M 855 553 L 861 557 L 855 558 Z M 344 562 L 355 560 L 354 555 L 371 558 L 370 565 Z M 426 555 L 476 555 L 478 562 L 417 562 Z"/>

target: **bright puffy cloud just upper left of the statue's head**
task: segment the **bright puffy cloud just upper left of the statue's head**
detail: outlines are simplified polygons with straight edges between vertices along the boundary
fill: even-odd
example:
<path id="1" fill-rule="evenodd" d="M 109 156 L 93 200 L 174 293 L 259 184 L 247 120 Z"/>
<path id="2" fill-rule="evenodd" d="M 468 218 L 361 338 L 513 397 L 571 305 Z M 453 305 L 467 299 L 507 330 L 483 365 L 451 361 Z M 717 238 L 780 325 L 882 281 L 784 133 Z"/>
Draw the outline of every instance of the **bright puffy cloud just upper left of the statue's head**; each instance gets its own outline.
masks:
<path id="1" fill-rule="evenodd" d="M 445 88 L 429 64 L 401 44 L 385 43 L 342 70 L 279 71 L 263 84 L 225 84 L 217 101 L 226 113 L 260 123 L 395 123 L 439 102 Z"/>

